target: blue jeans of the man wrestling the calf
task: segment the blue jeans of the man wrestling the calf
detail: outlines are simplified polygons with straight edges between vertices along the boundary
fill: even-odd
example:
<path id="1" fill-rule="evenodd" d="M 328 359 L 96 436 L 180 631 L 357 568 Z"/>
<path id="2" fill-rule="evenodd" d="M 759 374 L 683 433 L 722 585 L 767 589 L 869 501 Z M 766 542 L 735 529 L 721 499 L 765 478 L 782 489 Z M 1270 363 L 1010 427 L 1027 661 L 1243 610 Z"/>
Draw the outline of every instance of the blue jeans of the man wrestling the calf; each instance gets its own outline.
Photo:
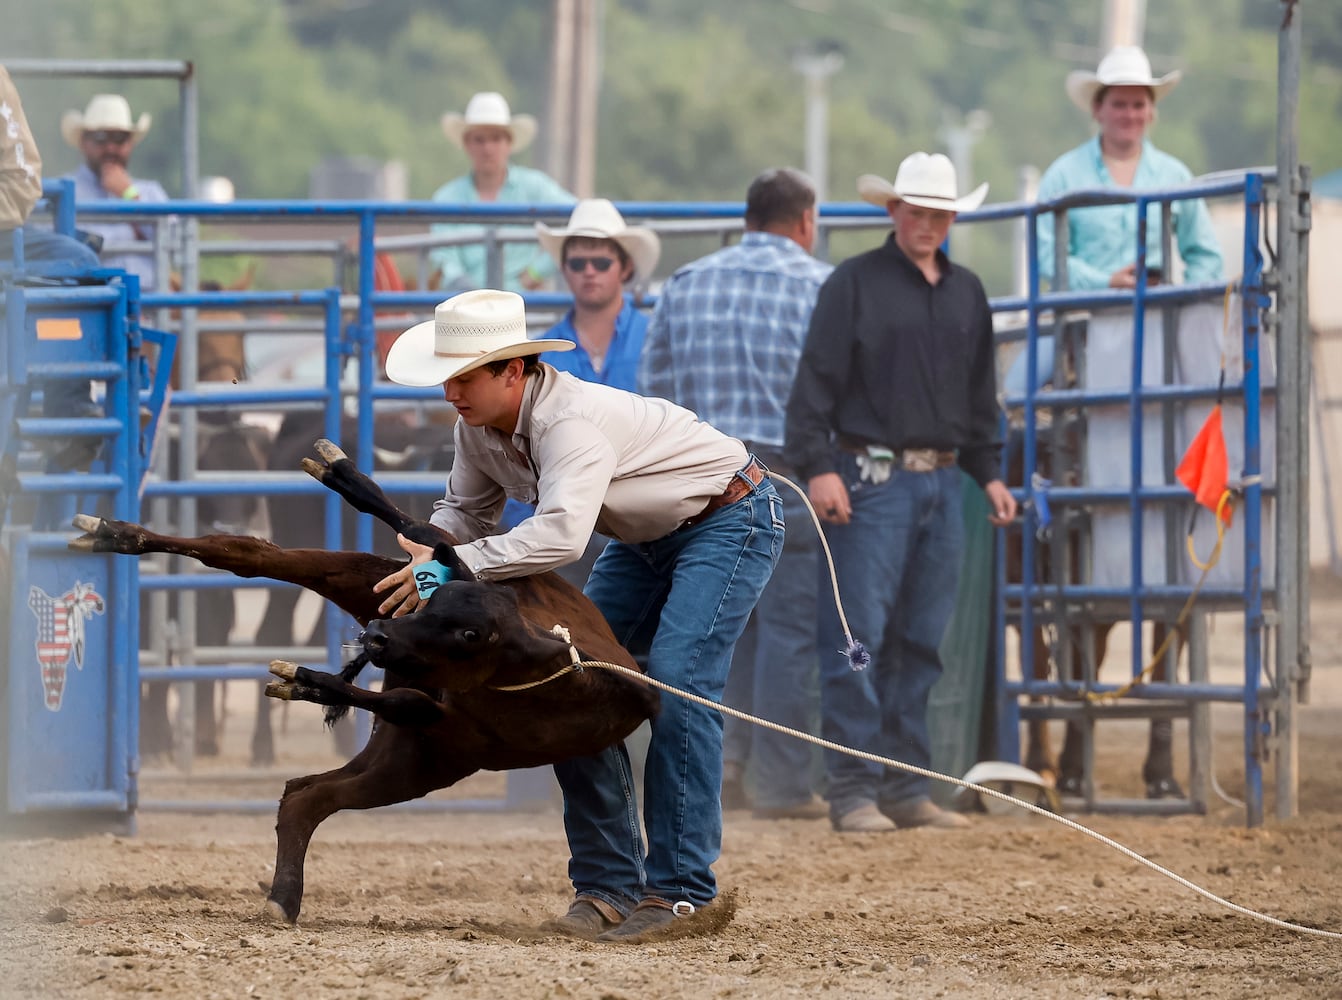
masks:
<path id="1" fill-rule="evenodd" d="M 722 699 L 731 650 L 782 549 L 782 501 L 765 479 L 745 498 L 656 541 L 612 541 L 586 595 L 616 638 L 647 652 L 648 674 Z M 569 878 L 628 914 L 644 897 L 703 906 L 717 895 L 722 851 L 722 717 L 662 694 L 652 719 L 639 832 L 637 795 L 624 744 L 554 765 L 564 789 Z"/>

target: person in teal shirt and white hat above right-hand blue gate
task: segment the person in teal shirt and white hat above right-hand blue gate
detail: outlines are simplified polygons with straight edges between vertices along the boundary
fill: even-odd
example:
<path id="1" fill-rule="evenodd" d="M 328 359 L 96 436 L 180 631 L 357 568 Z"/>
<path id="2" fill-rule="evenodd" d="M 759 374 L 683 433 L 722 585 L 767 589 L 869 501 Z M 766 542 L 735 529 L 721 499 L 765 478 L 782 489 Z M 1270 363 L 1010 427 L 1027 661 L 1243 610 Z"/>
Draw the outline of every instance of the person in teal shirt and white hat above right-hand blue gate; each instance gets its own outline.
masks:
<path id="1" fill-rule="evenodd" d="M 1083 142 L 1044 172 L 1039 200 L 1051 201 L 1072 191 L 1130 188 L 1150 191 L 1186 184 L 1193 173 L 1169 153 L 1162 153 L 1146 130 L 1155 119 L 1155 103 L 1178 83 L 1181 74 L 1151 77 L 1146 54 L 1121 46 L 1100 62 L 1095 72 L 1067 77 L 1067 95 L 1088 111 L 1099 134 Z M 1174 243 L 1184 260 L 1184 282 L 1221 281 L 1217 247 L 1206 204 L 1201 199 L 1174 201 Z M 1147 212 L 1146 266 L 1173 277 L 1161 255 L 1161 212 Z M 1096 205 L 1067 212 L 1068 289 L 1131 289 L 1137 285 L 1137 205 Z M 1039 219 L 1040 277 L 1053 279 L 1053 216 Z"/>

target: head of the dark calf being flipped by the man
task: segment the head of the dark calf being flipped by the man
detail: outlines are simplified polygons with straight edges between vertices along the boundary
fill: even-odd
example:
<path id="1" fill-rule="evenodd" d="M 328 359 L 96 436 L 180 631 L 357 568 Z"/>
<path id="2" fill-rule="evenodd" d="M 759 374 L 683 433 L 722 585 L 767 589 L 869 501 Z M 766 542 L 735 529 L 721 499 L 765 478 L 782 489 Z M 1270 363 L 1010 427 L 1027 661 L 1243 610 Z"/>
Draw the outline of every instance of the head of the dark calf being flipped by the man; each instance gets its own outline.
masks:
<path id="1" fill-rule="evenodd" d="M 369 621 L 362 642 L 370 663 L 447 691 L 569 662 L 569 644 L 526 620 L 511 588 L 475 581 L 443 584 L 413 615 Z"/>

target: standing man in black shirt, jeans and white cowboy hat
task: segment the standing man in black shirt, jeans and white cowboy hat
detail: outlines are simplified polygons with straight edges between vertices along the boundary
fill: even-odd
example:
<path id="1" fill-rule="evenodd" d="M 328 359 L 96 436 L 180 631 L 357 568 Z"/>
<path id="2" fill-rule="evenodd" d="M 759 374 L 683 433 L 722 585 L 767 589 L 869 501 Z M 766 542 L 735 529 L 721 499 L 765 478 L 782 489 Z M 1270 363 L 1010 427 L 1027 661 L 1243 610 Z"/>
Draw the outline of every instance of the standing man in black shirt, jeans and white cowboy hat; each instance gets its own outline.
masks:
<path id="1" fill-rule="evenodd" d="M 957 197 L 951 162 L 914 153 L 894 184 L 864 174 L 858 191 L 890 212 L 894 232 L 820 289 L 785 450 L 829 525 L 851 634 L 871 652 L 867 670 L 824 662 L 824 736 L 926 768 L 927 695 L 941 675 L 964 542 L 960 470 L 984 489 L 994 525 L 1016 515 L 997 478 L 988 295 L 941 252 L 956 213 L 977 208 L 988 185 Z M 832 603 L 820 630 L 820 648 L 843 646 Z M 825 765 L 835 830 L 966 826 L 937 808 L 923 777 L 837 752 Z"/>

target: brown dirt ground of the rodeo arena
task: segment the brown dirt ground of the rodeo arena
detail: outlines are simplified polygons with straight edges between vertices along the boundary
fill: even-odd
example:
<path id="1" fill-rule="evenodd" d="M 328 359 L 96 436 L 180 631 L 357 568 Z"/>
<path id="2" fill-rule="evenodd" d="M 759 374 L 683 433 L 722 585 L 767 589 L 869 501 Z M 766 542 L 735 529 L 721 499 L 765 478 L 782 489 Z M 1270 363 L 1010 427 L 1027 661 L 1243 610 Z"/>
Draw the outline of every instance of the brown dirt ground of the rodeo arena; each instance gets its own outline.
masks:
<path id="1" fill-rule="evenodd" d="M 1221 799 L 1206 816 L 1076 819 L 1243 906 L 1342 932 L 1342 587 L 1321 584 L 1299 819 L 1272 819 L 1271 796 L 1260 830 Z M 1237 642 L 1219 620 L 1217 671 Z M 243 776 L 234 715 L 220 758 L 189 781 L 148 770 L 142 793 L 275 800 L 334 761 L 315 719 L 291 706 L 280 764 Z M 1219 783 L 1241 793 L 1243 718 L 1217 707 L 1213 725 Z M 1137 722 L 1100 729 L 1106 795 L 1139 793 L 1143 742 Z M 482 776 L 455 793 L 502 787 Z M 556 813 L 338 815 L 314 839 L 297 928 L 258 919 L 272 827 L 268 811 L 144 812 L 136 836 L 0 842 L 0 996 L 1342 997 L 1342 941 L 1237 915 L 1025 815 L 839 836 L 729 813 L 717 921 L 643 946 L 537 930 L 568 899 Z"/>

